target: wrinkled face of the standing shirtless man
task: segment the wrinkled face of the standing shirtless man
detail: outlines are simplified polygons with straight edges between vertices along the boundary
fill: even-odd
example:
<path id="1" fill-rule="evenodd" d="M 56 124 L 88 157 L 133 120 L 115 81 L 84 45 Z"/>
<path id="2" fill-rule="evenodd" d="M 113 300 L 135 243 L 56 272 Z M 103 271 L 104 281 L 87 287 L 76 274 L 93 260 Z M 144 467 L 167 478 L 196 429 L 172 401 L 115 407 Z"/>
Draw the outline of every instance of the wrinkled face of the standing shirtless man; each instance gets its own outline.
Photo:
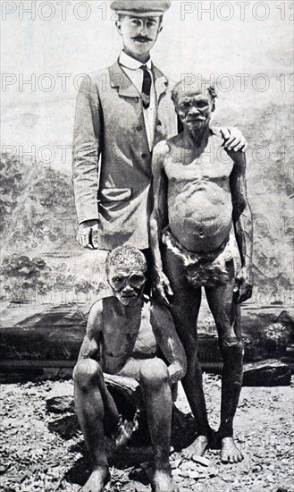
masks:
<path id="1" fill-rule="evenodd" d="M 176 111 L 181 122 L 190 131 L 198 131 L 208 126 L 213 111 L 213 101 L 207 92 L 181 92 Z"/>

